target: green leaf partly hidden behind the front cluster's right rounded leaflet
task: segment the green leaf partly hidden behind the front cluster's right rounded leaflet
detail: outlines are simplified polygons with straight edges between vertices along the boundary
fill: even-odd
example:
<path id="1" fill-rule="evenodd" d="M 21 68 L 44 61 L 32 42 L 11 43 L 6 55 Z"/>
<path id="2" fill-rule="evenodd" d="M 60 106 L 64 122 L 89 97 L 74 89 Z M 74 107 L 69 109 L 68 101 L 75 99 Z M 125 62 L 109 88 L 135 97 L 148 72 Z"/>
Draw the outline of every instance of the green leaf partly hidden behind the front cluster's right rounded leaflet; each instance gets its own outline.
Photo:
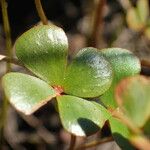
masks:
<path id="1" fill-rule="evenodd" d="M 101 51 L 111 63 L 114 78 L 111 87 L 102 96 L 101 101 L 111 108 L 116 108 L 114 90 L 119 81 L 128 76 L 134 76 L 141 70 L 139 59 L 130 51 L 121 48 L 108 48 Z"/>

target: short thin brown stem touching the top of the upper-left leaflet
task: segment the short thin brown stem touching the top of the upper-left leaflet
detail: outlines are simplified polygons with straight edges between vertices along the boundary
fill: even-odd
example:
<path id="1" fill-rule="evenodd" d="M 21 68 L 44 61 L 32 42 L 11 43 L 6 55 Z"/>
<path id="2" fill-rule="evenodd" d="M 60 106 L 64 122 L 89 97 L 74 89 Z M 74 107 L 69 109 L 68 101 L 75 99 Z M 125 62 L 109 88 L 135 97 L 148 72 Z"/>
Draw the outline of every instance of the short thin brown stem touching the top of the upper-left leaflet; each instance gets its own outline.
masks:
<path id="1" fill-rule="evenodd" d="M 35 0 L 35 6 L 42 23 L 45 25 L 48 24 L 48 19 L 43 11 L 41 0 Z"/>

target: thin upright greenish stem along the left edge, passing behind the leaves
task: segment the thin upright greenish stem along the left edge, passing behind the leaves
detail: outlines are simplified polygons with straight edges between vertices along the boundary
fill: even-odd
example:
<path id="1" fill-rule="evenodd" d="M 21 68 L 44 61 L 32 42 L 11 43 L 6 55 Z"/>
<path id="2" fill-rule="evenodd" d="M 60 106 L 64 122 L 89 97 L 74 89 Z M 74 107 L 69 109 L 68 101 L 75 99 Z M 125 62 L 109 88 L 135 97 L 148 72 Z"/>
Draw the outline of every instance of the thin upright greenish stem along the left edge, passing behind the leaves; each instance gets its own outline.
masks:
<path id="1" fill-rule="evenodd" d="M 9 19 L 8 19 L 8 12 L 7 12 L 7 3 L 5 0 L 0 0 L 1 8 L 2 8 L 2 17 L 3 17 L 3 26 L 4 26 L 4 32 L 5 32 L 5 37 L 6 37 L 6 53 L 7 56 L 12 58 L 13 53 L 12 53 L 12 41 L 11 41 L 11 31 L 10 31 L 10 25 L 9 25 Z M 7 63 L 7 72 L 11 71 L 11 64 Z M 4 131 L 4 126 L 6 123 L 6 117 L 7 117 L 7 110 L 8 110 L 8 101 L 7 98 L 4 96 L 3 97 L 3 105 L 2 105 L 2 112 L 0 116 L 0 135 L 1 138 L 0 140 L 3 140 L 3 131 Z"/>

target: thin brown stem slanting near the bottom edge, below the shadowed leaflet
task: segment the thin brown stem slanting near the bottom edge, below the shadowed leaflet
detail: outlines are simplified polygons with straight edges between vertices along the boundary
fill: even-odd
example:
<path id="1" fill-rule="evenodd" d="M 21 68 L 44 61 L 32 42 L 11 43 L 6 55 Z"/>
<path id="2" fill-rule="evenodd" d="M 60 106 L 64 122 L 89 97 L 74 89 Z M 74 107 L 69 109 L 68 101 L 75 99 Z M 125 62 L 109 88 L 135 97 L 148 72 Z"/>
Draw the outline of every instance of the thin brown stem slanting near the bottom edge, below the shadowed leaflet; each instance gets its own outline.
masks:
<path id="1" fill-rule="evenodd" d="M 95 146 L 97 146 L 99 144 L 111 142 L 113 140 L 114 139 L 112 137 L 107 137 L 107 138 L 104 138 L 104 139 L 101 139 L 101 140 L 98 140 L 98 141 L 93 141 L 91 143 L 88 143 L 88 144 L 85 144 L 85 145 L 81 145 L 76 150 L 82 150 L 82 149 L 85 149 L 85 148 L 95 147 Z"/>

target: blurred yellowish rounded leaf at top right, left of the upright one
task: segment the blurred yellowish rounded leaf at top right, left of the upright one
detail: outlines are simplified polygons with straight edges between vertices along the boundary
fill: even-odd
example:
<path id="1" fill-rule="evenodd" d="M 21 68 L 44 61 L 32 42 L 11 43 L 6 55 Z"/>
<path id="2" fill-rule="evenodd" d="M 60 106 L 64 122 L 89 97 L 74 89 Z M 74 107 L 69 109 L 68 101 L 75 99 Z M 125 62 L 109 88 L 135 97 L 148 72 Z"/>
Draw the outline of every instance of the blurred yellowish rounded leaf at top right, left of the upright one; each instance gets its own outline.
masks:
<path id="1" fill-rule="evenodd" d="M 140 32 L 144 28 L 144 24 L 142 23 L 136 8 L 132 7 L 128 10 L 126 20 L 129 28 L 136 32 Z"/>

